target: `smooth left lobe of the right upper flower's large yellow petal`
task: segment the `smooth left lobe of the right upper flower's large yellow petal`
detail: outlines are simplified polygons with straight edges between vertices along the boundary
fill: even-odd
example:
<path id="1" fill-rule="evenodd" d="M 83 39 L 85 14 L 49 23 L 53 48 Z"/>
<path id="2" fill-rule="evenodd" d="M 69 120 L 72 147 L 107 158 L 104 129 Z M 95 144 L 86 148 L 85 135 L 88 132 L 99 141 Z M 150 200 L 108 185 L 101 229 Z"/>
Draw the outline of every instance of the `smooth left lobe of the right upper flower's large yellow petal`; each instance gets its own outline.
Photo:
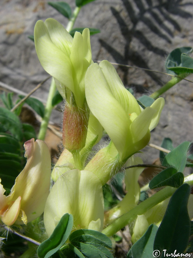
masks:
<path id="1" fill-rule="evenodd" d="M 85 94 L 92 114 L 102 124 L 121 156 L 129 140 L 130 120 L 112 94 L 101 68 L 96 63 L 91 64 L 86 72 Z"/>

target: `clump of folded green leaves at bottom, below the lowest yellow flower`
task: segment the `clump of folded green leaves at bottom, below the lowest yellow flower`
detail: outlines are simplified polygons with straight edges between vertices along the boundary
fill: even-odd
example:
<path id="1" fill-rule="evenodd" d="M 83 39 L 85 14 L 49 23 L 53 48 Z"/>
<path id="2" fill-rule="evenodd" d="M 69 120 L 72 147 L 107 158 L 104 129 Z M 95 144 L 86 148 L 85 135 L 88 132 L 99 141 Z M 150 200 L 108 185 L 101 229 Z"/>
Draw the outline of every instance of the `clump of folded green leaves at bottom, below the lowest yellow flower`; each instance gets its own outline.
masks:
<path id="1" fill-rule="evenodd" d="M 88 229 L 75 230 L 71 233 L 72 226 L 73 216 L 64 214 L 51 236 L 39 245 L 38 257 L 48 258 L 59 255 L 59 257 L 113 258 L 109 251 L 112 243 L 106 235 Z M 70 243 L 65 244 L 68 238 Z M 58 251 L 59 253 L 56 254 Z"/>

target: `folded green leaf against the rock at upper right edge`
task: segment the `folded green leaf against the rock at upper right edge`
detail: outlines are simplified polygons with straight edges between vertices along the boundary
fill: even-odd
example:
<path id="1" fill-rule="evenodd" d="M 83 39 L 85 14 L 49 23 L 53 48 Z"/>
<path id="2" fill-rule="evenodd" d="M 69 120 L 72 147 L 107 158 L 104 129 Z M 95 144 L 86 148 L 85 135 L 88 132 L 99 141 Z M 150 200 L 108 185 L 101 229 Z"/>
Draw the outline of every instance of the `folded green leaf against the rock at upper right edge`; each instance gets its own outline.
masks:
<path id="1" fill-rule="evenodd" d="M 166 59 L 166 72 L 172 75 L 193 73 L 193 58 L 190 56 L 192 48 L 182 47 L 174 49 Z"/>

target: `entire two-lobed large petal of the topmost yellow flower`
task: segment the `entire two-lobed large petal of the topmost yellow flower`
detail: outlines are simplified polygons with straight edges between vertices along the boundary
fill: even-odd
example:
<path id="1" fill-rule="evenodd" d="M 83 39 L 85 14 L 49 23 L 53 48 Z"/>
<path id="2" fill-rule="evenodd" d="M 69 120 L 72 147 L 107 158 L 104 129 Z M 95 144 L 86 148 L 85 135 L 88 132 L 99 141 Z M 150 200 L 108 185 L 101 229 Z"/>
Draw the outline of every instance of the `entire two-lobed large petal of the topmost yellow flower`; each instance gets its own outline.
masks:
<path id="1" fill-rule="evenodd" d="M 48 31 L 47 26 L 51 32 Z M 61 36 L 61 27 L 61 24 L 54 19 L 48 19 L 45 23 L 41 20 L 37 21 L 34 28 L 35 48 L 45 71 L 74 92 L 72 64 L 69 58 L 69 49 L 65 46 L 69 36 L 66 36 L 68 33 L 65 33 L 67 40 Z"/>

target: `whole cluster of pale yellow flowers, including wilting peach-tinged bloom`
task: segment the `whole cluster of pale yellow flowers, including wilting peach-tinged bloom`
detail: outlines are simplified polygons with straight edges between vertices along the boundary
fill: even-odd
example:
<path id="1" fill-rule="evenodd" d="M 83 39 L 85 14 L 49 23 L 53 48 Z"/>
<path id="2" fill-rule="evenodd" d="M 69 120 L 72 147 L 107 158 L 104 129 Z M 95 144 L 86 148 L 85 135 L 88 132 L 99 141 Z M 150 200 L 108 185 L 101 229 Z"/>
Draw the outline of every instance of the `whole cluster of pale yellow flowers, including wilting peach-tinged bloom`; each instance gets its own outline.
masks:
<path id="1" fill-rule="evenodd" d="M 82 34 L 76 32 L 72 38 L 56 20 L 47 19 L 37 21 L 34 39 L 41 65 L 54 77 L 65 99 L 64 150 L 53 169 L 55 184 L 49 193 L 49 151 L 40 140 L 25 143 L 27 164 L 9 196 L 3 195 L 5 190 L 0 185 L 1 220 L 7 225 L 27 224 L 44 211 L 45 229 L 51 235 L 63 214 L 70 213 L 74 218 L 73 230 L 102 230 L 102 186 L 148 144 L 150 131 L 159 122 L 164 99 L 158 98 L 143 109 L 125 89 L 112 64 L 106 60 L 93 63 L 89 29 Z M 110 143 L 88 159 L 104 130 Z M 137 205 L 140 173 L 141 169 L 126 171 L 128 193 L 119 207 L 112 210 L 109 220 Z"/>

